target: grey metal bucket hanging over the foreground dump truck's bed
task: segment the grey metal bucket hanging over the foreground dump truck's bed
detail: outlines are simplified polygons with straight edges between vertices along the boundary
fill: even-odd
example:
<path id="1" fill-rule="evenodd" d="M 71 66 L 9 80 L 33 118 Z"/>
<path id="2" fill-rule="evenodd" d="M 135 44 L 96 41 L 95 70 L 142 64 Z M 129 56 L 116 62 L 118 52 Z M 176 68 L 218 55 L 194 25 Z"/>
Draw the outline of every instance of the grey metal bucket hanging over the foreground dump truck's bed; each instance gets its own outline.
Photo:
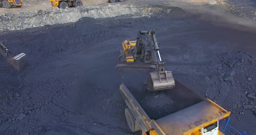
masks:
<path id="1" fill-rule="evenodd" d="M 165 72 L 150 72 L 148 77 L 148 90 L 167 90 L 175 87 L 174 77 L 171 71 Z"/>

